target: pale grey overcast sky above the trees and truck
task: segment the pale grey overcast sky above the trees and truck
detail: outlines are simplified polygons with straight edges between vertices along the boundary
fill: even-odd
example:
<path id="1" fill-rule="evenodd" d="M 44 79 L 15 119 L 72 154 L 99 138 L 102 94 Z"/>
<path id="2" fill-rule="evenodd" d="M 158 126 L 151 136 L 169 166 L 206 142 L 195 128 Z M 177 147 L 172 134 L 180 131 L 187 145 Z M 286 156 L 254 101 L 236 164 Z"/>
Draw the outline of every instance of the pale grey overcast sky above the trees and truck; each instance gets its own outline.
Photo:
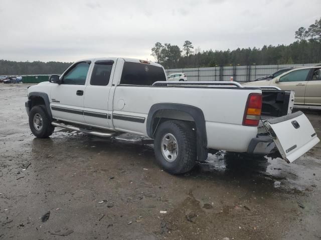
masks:
<path id="1" fill-rule="evenodd" d="M 151 59 L 156 41 L 201 50 L 289 44 L 321 0 L 0 0 L 0 59 Z"/>

